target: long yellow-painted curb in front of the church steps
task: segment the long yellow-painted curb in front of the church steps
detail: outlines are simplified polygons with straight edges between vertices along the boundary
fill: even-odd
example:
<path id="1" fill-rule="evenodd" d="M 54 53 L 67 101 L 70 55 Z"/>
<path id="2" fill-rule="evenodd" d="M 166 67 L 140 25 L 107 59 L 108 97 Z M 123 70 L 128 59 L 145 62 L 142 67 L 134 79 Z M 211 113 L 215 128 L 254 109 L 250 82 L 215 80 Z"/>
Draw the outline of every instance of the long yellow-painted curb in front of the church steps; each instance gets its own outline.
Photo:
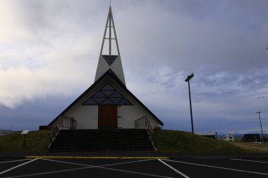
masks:
<path id="1" fill-rule="evenodd" d="M 28 155 L 26 158 L 43 158 L 43 159 L 136 159 L 136 160 L 150 160 L 150 159 L 169 159 L 169 157 L 159 156 L 61 156 L 61 155 Z"/>

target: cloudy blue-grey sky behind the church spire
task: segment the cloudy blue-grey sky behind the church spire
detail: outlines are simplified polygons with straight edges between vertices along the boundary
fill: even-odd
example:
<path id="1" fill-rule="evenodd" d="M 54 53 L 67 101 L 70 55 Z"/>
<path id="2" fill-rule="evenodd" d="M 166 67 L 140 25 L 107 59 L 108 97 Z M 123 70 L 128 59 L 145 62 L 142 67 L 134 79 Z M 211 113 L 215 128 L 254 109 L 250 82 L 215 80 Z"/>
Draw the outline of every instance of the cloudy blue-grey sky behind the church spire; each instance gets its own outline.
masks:
<path id="1" fill-rule="evenodd" d="M 268 133 L 267 0 L 112 0 L 128 89 L 164 122 Z M 47 125 L 95 79 L 109 0 L 0 0 L 0 129 Z"/>

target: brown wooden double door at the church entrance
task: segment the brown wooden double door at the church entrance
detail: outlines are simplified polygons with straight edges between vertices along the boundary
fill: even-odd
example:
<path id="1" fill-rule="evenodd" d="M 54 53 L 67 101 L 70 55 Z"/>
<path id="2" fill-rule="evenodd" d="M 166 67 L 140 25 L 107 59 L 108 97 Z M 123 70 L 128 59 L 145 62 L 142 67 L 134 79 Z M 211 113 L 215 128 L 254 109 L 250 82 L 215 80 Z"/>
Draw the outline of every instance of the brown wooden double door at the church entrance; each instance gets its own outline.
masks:
<path id="1" fill-rule="evenodd" d="M 117 106 L 99 105 L 98 129 L 117 128 Z"/>

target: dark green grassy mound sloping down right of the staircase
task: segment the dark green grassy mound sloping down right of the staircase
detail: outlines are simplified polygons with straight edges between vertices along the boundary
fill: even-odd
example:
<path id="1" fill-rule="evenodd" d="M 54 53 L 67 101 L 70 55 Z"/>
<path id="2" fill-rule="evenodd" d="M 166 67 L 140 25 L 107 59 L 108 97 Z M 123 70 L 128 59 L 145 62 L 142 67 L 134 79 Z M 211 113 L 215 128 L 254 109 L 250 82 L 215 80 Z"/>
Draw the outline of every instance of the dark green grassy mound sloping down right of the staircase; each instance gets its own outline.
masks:
<path id="1" fill-rule="evenodd" d="M 180 153 L 241 153 L 245 149 L 189 132 L 157 130 L 154 141 L 158 151 Z"/>

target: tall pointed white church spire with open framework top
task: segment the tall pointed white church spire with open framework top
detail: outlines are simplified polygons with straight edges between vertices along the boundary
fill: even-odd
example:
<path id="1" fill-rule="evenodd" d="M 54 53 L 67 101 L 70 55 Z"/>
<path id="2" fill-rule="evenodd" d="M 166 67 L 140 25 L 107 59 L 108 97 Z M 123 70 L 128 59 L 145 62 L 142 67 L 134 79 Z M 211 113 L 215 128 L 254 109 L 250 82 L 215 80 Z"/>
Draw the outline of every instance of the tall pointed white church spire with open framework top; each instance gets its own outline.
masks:
<path id="1" fill-rule="evenodd" d="M 111 6 L 109 7 L 109 13 L 104 30 L 104 37 L 102 39 L 102 48 L 99 53 L 99 62 L 97 66 L 95 82 L 109 69 L 111 69 L 119 78 L 119 80 L 121 80 L 121 82 L 126 85 L 125 77 L 123 75 L 123 67 L 121 63 L 118 41 L 116 37 L 116 28 L 114 26 L 113 13 L 111 12 Z"/>

